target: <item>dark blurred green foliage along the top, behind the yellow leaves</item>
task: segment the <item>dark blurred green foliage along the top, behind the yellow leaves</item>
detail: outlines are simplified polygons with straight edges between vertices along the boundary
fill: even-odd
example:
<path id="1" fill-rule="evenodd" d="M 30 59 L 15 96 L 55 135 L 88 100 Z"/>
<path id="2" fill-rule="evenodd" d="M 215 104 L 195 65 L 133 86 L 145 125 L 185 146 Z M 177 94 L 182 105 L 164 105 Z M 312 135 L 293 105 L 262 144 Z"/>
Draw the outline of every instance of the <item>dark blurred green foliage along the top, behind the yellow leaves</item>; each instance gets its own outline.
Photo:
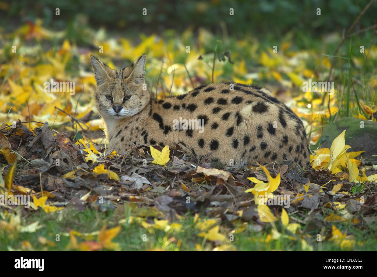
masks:
<path id="1" fill-rule="evenodd" d="M 8 9 L 1 12 L 0 22 L 11 28 L 17 21 L 43 18 L 44 26 L 64 29 L 77 16 L 84 15 L 90 26 L 108 30 L 153 33 L 165 29 L 183 31 L 189 26 L 204 27 L 214 33 L 228 32 L 242 37 L 247 34 L 280 38 L 287 31 L 300 31 L 316 37 L 347 28 L 369 0 L 104 0 L 54 1 L 6 0 Z M 60 15 L 55 15 L 55 8 Z M 147 15 L 143 15 L 143 8 Z M 230 8 L 234 15 L 230 15 Z M 317 8 L 321 15 L 317 15 Z M 225 24 L 221 22 L 224 21 Z M 359 28 L 375 23 L 373 6 L 363 15 Z M 221 27 L 222 25 L 222 27 Z M 225 31 L 226 26 L 227 31 Z M 354 30 L 357 31 L 357 30 Z"/>

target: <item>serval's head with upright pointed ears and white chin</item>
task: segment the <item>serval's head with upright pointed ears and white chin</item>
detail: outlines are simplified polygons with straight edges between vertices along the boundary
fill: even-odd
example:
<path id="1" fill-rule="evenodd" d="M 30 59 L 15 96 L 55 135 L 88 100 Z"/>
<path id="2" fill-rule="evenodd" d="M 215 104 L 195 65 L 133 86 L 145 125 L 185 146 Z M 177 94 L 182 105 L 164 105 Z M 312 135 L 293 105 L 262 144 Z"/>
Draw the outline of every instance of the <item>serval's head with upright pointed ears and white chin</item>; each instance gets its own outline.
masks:
<path id="1" fill-rule="evenodd" d="M 98 58 L 90 56 L 97 82 L 95 105 L 104 118 L 120 119 L 136 115 L 147 105 L 150 94 L 144 83 L 146 56 L 129 67 L 111 69 Z"/>

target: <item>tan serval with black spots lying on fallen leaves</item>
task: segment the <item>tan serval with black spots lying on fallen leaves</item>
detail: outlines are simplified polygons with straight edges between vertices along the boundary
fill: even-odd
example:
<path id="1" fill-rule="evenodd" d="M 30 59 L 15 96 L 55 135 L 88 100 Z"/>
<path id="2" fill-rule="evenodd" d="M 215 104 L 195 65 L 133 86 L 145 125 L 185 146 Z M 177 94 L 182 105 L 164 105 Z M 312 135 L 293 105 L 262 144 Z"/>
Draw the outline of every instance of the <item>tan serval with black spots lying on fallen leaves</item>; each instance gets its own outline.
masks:
<path id="1" fill-rule="evenodd" d="M 153 100 L 143 90 L 145 59 L 143 55 L 118 72 L 90 57 L 97 81 L 95 104 L 106 124 L 110 148 L 122 153 L 133 143 L 171 148 L 179 144 L 199 157 L 212 152 L 212 161 L 228 167 L 285 159 L 293 159 L 304 167 L 309 164 L 302 121 L 268 90 L 216 83 L 197 87 L 185 95 Z M 124 96 L 130 98 L 123 101 Z M 114 106 L 118 108 L 114 110 Z M 173 123 L 180 117 L 204 119 L 204 132 L 175 130 Z"/>

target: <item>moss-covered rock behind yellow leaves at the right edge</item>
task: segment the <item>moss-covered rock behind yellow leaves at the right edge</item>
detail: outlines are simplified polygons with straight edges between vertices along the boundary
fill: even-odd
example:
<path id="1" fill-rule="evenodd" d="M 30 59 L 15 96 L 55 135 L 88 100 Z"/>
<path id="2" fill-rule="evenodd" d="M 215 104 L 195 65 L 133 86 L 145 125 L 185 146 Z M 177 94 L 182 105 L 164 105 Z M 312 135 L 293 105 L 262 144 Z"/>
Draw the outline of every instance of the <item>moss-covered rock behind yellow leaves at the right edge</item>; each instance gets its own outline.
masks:
<path id="1" fill-rule="evenodd" d="M 320 141 L 323 141 L 322 147 L 330 148 L 333 140 L 343 130 L 346 130 L 345 141 L 352 147 L 352 151 L 364 150 L 363 158 L 377 159 L 373 156 L 377 155 L 377 122 L 359 118 L 341 118 L 323 129 L 320 137 Z"/>

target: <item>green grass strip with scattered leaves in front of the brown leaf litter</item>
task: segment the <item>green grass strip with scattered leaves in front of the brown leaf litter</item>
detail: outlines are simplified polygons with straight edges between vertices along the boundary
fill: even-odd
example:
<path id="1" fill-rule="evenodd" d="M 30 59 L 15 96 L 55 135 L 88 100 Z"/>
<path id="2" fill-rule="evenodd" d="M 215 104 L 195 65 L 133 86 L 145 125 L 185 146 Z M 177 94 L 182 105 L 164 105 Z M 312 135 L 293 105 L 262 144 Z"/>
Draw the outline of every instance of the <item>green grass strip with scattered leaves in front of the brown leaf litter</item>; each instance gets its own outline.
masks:
<path id="1" fill-rule="evenodd" d="M 69 211 L 64 209 L 63 213 L 50 213 L 47 214 L 43 210 L 29 213 L 21 220 L 21 225 L 26 225 L 35 221 L 40 222 L 43 228 L 35 231 L 34 233 L 19 233 L 16 231 L 8 232 L 3 229 L 0 230 L 0 251 L 7 251 L 9 249 L 21 249 L 22 243 L 28 241 L 31 243 L 32 248 L 29 250 L 50 250 L 50 251 L 65 251 L 69 245 L 69 236 L 67 233 L 72 230 L 80 233 L 92 233 L 101 230 L 102 226 L 106 224 L 107 229 L 117 226 L 117 222 L 122 222 L 120 232 L 113 239 L 120 245 L 123 251 L 138 251 L 138 250 L 167 250 L 167 251 L 190 251 L 190 250 L 212 250 L 216 245 L 213 242 L 199 237 L 198 234 L 201 230 L 195 228 L 194 217 L 192 214 L 182 216 L 181 220 L 176 220 L 177 223 L 182 225 L 179 231 L 164 231 L 149 229 L 146 230 L 139 223 L 132 222 L 127 224 L 130 211 L 120 215 L 118 213 L 106 212 L 99 213 L 96 210 L 85 211 Z M 324 213 L 326 214 L 326 213 Z M 329 211 L 328 214 L 331 214 Z M 308 215 L 302 215 L 305 218 Z M 299 213 L 294 214 L 291 218 L 299 218 Z M 126 219 L 126 220 L 122 220 Z M 205 217 L 199 216 L 199 220 Z M 120 221 L 119 221 L 120 220 Z M 153 220 L 150 220 L 152 223 Z M 290 223 L 292 220 L 290 221 Z M 171 223 L 171 222 L 170 222 Z M 223 222 L 224 223 L 224 222 Z M 244 231 L 241 233 L 234 233 L 233 241 L 222 243 L 226 246 L 225 249 L 234 249 L 240 251 L 300 251 L 302 250 L 302 240 L 313 248 L 314 251 L 339 251 L 339 250 L 365 250 L 374 251 L 377 245 L 377 222 L 369 225 L 367 228 L 360 228 L 357 225 L 350 223 L 335 223 L 342 233 L 345 231 L 347 235 L 352 235 L 355 240 L 355 245 L 351 248 L 341 249 L 339 245 L 328 240 L 331 237 L 331 223 L 325 225 L 321 231 L 319 228 L 314 227 L 309 221 L 306 224 L 301 224 L 301 229 L 297 231 L 296 235 L 289 233 L 289 231 L 282 228 L 280 221 L 276 221 L 274 226 L 282 234 L 279 239 L 266 241 L 268 234 L 271 234 L 274 228 L 271 224 L 267 223 L 264 231 L 260 231 L 259 225 L 253 225 L 250 222 Z M 229 224 L 224 223 L 220 226 L 220 233 L 229 238 L 228 232 L 232 228 L 228 228 Z M 55 241 L 56 235 L 60 235 L 60 241 Z M 317 234 L 321 234 L 322 241 L 316 240 Z M 146 240 L 143 240 L 143 236 Z M 295 237 L 297 240 L 288 239 L 286 237 Z M 327 236 L 325 238 L 325 236 Z M 55 243 L 54 246 L 43 245 L 39 242 L 38 237 L 45 237 L 46 239 Z M 324 239 L 325 238 L 325 239 Z M 85 240 L 77 236 L 78 243 Z M 94 236 L 92 240 L 97 240 Z M 10 248 L 9 248 L 10 247 Z M 28 249 L 26 249 L 28 250 Z"/>

